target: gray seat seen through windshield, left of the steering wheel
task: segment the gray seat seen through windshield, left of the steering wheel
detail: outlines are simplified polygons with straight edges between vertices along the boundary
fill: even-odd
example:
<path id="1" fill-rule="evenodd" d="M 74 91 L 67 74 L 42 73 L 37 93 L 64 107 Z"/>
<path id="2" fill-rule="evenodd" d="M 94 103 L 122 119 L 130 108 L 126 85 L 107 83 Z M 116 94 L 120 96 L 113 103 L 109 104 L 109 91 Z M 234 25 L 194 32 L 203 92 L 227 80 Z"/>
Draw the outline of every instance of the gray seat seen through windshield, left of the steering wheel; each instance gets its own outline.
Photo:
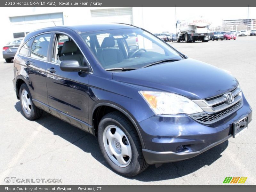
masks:
<path id="1" fill-rule="evenodd" d="M 113 37 L 105 37 L 98 52 L 99 59 L 103 67 L 122 62 L 123 56 L 119 49 L 115 48 L 115 39 Z"/>

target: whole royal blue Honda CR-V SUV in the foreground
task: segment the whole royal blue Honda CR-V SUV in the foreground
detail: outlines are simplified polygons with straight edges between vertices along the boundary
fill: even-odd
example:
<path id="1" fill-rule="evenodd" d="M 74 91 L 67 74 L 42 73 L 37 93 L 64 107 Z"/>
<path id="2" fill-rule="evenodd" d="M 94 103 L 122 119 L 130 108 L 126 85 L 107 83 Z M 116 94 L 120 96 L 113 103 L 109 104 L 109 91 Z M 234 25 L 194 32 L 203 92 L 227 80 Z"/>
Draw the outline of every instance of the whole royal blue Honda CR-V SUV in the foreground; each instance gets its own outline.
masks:
<path id="1" fill-rule="evenodd" d="M 130 34 L 137 50 L 128 49 Z M 68 41 L 59 53 L 60 39 Z M 252 120 L 235 77 L 125 24 L 30 32 L 14 57 L 13 86 L 27 119 L 46 111 L 97 136 L 105 161 L 125 176 L 197 156 Z"/>

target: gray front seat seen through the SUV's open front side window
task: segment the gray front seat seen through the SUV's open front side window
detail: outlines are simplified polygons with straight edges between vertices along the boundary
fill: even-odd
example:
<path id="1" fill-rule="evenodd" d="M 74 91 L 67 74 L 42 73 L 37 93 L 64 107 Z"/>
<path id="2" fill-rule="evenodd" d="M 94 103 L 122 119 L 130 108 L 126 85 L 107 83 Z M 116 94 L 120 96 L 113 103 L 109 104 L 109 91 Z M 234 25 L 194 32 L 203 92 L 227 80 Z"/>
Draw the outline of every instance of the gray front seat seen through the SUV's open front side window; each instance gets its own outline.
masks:
<path id="1" fill-rule="evenodd" d="M 77 52 L 77 46 L 73 41 L 66 41 L 64 42 L 62 49 L 61 49 L 61 55 L 60 60 L 77 60 L 79 65 L 82 66 L 84 56 L 82 54 L 76 54 Z"/>

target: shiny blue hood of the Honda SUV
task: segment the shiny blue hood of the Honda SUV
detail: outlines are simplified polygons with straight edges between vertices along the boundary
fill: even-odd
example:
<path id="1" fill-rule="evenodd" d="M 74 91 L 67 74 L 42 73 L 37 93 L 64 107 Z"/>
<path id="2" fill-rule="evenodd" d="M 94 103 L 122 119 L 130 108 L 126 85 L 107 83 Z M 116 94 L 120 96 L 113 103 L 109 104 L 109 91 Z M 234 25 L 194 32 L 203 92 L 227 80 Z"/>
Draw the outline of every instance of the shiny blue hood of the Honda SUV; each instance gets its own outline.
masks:
<path id="1" fill-rule="evenodd" d="M 189 58 L 132 71 L 114 72 L 112 77 L 140 90 L 172 92 L 190 99 L 213 97 L 238 85 L 236 78 L 227 71 Z"/>

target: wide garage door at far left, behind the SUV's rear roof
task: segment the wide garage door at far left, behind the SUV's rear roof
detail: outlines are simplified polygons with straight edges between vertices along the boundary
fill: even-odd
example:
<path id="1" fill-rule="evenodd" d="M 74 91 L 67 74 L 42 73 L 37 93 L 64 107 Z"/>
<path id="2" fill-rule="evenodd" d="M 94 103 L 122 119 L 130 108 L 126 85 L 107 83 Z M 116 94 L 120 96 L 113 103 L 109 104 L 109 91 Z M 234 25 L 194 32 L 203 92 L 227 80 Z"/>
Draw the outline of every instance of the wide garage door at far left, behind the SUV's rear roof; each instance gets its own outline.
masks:
<path id="1" fill-rule="evenodd" d="M 18 38 L 36 29 L 63 25 L 63 13 L 10 17 L 10 21 L 13 37 Z"/>

